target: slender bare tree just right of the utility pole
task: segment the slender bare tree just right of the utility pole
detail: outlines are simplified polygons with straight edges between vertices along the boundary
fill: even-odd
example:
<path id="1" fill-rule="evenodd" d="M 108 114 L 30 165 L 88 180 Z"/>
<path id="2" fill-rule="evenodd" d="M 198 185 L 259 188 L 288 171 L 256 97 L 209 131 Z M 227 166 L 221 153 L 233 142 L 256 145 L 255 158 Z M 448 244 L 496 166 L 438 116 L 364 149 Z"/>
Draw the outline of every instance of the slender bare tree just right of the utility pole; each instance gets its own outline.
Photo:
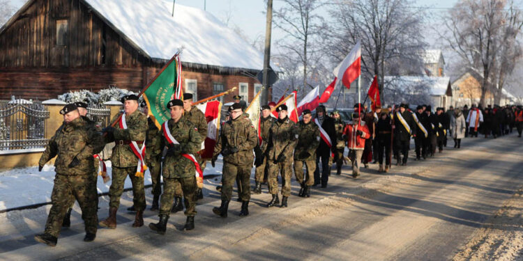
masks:
<path id="1" fill-rule="evenodd" d="M 319 56 L 319 33 L 322 31 L 323 18 L 317 15 L 322 3 L 318 0 L 282 0 L 282 7 L 273 10 L 273 22 L 285 36 L 278 41 L 282 48 L 280 56 L 288 60 L 299 61 L 303 71 L 303 86 L 300 90 L 313 88 L 308 84 L 310 60 Z M 321 58 L 321 57 L 320 57 Z M 319 57 L 312 59 L 319 60 Z"/>

